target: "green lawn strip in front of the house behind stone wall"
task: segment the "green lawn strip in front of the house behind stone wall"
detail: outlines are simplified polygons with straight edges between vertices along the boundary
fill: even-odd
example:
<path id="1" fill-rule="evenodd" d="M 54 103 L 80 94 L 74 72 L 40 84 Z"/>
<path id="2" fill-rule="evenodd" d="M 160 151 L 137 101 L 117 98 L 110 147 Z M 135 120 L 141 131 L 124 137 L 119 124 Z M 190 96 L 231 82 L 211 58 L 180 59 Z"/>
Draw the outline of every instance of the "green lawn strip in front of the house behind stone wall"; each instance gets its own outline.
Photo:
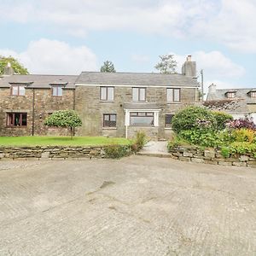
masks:
<path id="1" fill-rule="evenodd" d="M 130 144 L 131 141 L 123 137 L 0 137 L 1 146 L 84 146 L 84 145 L 108 145 Z"/>

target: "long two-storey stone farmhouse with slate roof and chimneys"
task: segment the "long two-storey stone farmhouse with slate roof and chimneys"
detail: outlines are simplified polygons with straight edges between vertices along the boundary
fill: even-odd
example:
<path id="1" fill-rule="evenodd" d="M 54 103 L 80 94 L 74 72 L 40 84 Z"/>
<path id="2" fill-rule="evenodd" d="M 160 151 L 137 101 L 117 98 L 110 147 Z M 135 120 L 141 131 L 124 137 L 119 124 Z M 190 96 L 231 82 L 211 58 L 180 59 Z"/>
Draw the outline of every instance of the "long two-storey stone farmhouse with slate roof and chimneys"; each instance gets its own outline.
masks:
<path id="1" fill-rule="evenodd" d="M 83 121 L 77 136 L 170 137 L 172 117 L 199 102 L 195 61 L 189 55 L 182 73 L 100 73 L 16 75 L 6 67 L 0 79 L 0 135 L 67 133 L 44 125 L 49 114 L 75 109 Z"/>

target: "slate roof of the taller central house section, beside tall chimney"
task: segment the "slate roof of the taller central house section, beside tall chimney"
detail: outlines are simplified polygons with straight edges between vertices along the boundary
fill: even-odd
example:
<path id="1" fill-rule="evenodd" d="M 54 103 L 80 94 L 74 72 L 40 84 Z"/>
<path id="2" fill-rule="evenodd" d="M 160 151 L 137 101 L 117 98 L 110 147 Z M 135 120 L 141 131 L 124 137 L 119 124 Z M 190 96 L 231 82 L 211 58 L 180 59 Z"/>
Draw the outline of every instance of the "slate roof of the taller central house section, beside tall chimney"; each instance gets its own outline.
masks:
<path id="1" fill-rule="evenodd" d="M 82 72 L 76 84 L 192 86 L 197 80 L 183 74 Z"/>

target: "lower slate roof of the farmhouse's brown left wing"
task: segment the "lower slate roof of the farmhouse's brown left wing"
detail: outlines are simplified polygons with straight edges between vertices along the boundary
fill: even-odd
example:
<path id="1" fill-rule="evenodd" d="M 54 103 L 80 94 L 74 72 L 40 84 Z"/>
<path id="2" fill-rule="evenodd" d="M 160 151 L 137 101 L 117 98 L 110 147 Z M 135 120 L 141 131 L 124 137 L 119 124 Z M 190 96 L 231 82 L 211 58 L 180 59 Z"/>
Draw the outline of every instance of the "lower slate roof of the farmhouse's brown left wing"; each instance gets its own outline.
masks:
<path id="1" fill-rule="evenodd" d="M 12 75 L 0 79 L 0 87 L 9 87 L 11 84 L 27 84 L 26 88 L 50 88 L 50 84 L 61 84 L 66 89 L 75 88 L 78 76 L 74 75 Z"/>

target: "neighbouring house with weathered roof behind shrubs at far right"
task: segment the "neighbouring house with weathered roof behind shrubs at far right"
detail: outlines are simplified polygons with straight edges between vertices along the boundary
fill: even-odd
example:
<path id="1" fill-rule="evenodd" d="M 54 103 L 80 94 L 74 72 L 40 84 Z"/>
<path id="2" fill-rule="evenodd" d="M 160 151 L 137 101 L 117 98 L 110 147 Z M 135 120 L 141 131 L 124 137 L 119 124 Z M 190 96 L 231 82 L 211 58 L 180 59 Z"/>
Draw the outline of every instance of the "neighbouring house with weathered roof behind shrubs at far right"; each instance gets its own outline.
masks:
<path id="1" fill-rule="evenodd" d="M 234 119 L 247 117 L 256 122 L 256 89 L 217 89 L 211 84 L 204 106 L 230 113 Z"/>

